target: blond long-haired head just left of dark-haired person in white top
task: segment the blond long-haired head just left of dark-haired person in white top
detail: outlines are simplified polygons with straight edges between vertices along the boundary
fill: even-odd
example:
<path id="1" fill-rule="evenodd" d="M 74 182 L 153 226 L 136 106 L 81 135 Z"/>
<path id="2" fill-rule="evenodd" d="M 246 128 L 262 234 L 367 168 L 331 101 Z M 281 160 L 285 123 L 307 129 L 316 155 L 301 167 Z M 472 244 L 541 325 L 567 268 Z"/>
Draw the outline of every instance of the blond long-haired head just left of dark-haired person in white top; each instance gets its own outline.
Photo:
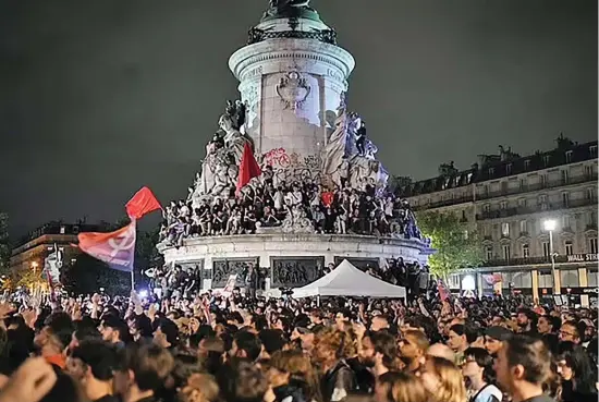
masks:
<path id="1" fill-rule="evenodd" d="M 420 379 L 435 402 L 466 402 L 466 387 L 460 369 L 442 357 L 427 356 Z"/>

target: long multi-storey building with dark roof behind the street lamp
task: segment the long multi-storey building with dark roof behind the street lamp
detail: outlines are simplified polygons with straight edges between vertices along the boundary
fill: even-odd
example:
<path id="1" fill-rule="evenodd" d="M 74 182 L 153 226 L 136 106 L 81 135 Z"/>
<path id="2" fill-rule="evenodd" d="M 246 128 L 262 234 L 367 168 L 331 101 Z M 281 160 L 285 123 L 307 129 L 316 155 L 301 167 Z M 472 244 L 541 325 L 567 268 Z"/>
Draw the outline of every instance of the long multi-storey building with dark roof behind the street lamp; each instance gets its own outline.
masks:
<path id="1" fill-rule="evenodd" d="M 596 299 L 597 142 L 561 136 L 549 151 L 521 157 L 500 147 L 479 158 L 469 170 L 443 165 L 439 176 L 400 188 L 414 209 L 456 214 L 480 236 L 485 264 L 453 276 L 451 288 L 464 290 L 474 276 L 478 294 Z"/>

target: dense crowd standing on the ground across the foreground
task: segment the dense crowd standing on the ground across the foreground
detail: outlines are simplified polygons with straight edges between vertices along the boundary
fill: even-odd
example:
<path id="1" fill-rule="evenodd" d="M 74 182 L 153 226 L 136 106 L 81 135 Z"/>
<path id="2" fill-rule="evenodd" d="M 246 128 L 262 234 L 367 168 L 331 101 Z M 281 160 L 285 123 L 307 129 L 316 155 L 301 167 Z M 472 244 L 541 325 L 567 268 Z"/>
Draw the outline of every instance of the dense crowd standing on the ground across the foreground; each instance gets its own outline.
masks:
<path id="1" fill-rule="evenodd" d="M 0 402 L 597 400 L 597 312 L 523 297 L 21 294 L 0 318 Z"/>

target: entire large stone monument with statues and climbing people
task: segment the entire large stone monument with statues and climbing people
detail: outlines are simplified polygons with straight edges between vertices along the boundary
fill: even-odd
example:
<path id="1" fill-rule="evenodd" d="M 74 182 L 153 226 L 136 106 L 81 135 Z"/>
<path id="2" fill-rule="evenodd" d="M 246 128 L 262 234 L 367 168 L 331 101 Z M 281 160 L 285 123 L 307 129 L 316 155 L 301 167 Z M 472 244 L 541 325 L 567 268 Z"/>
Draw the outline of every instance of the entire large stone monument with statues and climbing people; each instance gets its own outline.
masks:
<path id="1" fill-rule="evenodd" d="M 167 264 L 203 267 L 205 288 L 257 267 L 268 289 L 306 284 L 341 258 L 426 261 L 414 215 L 387 193 L 366 123 L 347 110 L 354 64 L 309 1 L 270 1 L 229 60 L 241 100 L 227 102 L 187 199 L 166 208 Z M 262 175 L 235 194 L 246 143 Z"/>

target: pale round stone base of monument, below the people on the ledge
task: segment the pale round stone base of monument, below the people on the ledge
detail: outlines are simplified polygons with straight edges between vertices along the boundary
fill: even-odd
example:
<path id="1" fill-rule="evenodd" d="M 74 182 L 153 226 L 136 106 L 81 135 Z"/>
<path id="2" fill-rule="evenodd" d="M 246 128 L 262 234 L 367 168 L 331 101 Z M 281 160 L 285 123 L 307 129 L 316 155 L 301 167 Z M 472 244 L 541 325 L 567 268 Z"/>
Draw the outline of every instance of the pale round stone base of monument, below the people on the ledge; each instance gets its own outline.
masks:
<path id="1" fill-rule="evenodd" d="M 388 260 L 426 264 L 430 248 L 417 239 L 353 234 L 261 233 L 186 239 L 182 246 L 158 245 L 167 265 L 200 269 L 203 289 L 221 289 L 231 275 L 244 287 L 243 272 L 259 267 L 260 287 L 278 295 L 279 288 L 297 288 L 316 280 L 322 268 L 347 259 L 360 269 Z"/>

